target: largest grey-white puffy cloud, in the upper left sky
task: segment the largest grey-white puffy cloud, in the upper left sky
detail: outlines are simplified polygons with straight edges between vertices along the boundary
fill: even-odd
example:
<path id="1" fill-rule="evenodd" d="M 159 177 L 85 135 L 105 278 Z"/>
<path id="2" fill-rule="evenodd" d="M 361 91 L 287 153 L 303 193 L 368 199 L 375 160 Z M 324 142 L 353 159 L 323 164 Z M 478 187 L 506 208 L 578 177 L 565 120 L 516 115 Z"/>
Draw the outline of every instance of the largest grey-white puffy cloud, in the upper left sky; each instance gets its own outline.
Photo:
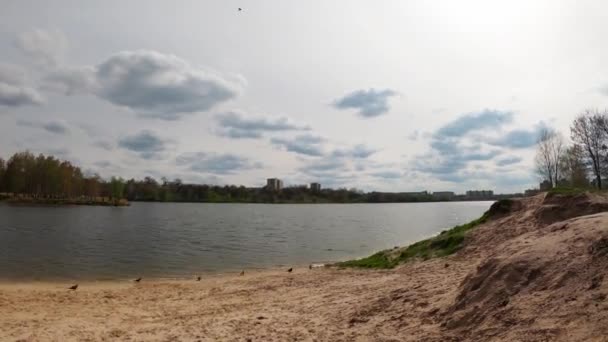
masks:
<path id="1" fill-rule="evenodd" d="M 165 120 L 212 109 L 242 87 L 174 55 L 143 50 L 115 54 L 97 67 L 96 78 L 99 97 Z"/>

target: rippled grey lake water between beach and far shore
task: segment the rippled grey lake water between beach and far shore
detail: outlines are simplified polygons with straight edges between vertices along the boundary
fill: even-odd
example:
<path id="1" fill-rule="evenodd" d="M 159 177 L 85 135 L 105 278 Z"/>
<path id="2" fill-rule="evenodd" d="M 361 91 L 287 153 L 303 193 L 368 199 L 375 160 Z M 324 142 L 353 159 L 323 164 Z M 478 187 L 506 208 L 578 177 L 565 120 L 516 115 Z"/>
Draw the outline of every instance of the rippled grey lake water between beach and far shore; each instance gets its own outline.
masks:
<path id="1" fill-rule="evenodd" d="M 0 204 L 0 279 L 190 277 L 345 260 L 468 222 L 490 204 Z"/>

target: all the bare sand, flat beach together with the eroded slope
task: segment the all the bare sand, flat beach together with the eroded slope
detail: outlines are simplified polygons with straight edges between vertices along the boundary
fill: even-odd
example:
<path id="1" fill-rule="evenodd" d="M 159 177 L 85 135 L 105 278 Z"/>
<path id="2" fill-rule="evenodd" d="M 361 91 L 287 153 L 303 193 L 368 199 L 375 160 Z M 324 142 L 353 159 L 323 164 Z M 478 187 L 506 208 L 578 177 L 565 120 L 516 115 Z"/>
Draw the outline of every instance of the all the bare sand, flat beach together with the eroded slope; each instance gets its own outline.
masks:
<path id="1" fill-rule="evenodd" d="M 393 270 L 296 267 L 76 291 L 4 283 L 0 340 L 608 341 L 603 204 L 518 200 L 457 254 Z"/>

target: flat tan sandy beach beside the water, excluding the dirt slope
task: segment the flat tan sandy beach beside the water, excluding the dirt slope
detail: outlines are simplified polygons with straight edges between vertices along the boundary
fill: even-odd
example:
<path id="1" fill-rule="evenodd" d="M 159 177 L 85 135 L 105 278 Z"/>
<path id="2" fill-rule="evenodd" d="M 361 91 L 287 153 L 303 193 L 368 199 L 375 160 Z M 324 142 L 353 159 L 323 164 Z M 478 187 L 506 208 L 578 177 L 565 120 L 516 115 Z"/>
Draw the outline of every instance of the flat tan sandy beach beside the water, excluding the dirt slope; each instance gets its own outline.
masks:
<path id="1" fill-rule="evenodd" d="M 453 297 L 445 288 L 462 280 L 467 267 L 453 263 L 445 269 L 437 260 L 391 271 L 296 268 L 291 274 L 269 270 L 200 282 L 80 283 L 76 291 L 63 283 L 5 283 L 0 339 L 394 340 L 431 323 L 429 312 Z M 395 299 L 403 302 L 391 308 Z M 430 324 L 416 336 L 439 337 L 438 328 Z"/>

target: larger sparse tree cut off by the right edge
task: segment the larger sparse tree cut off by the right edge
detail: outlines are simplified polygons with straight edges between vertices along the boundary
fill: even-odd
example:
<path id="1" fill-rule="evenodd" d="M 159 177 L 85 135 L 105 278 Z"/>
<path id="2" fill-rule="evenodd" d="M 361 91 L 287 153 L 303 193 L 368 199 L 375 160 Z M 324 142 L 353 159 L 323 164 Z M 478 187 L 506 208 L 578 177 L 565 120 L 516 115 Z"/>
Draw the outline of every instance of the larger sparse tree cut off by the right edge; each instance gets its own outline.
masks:
<path id="1" fill-rule="evenodd" d="M 585 110 L 570 127 L 572 141 L 584 149 L 598 189 L 602 189 L 602 175 L 606 167 L 608 132 L 604 129 L 605 122 L 606 112 Z"/>

